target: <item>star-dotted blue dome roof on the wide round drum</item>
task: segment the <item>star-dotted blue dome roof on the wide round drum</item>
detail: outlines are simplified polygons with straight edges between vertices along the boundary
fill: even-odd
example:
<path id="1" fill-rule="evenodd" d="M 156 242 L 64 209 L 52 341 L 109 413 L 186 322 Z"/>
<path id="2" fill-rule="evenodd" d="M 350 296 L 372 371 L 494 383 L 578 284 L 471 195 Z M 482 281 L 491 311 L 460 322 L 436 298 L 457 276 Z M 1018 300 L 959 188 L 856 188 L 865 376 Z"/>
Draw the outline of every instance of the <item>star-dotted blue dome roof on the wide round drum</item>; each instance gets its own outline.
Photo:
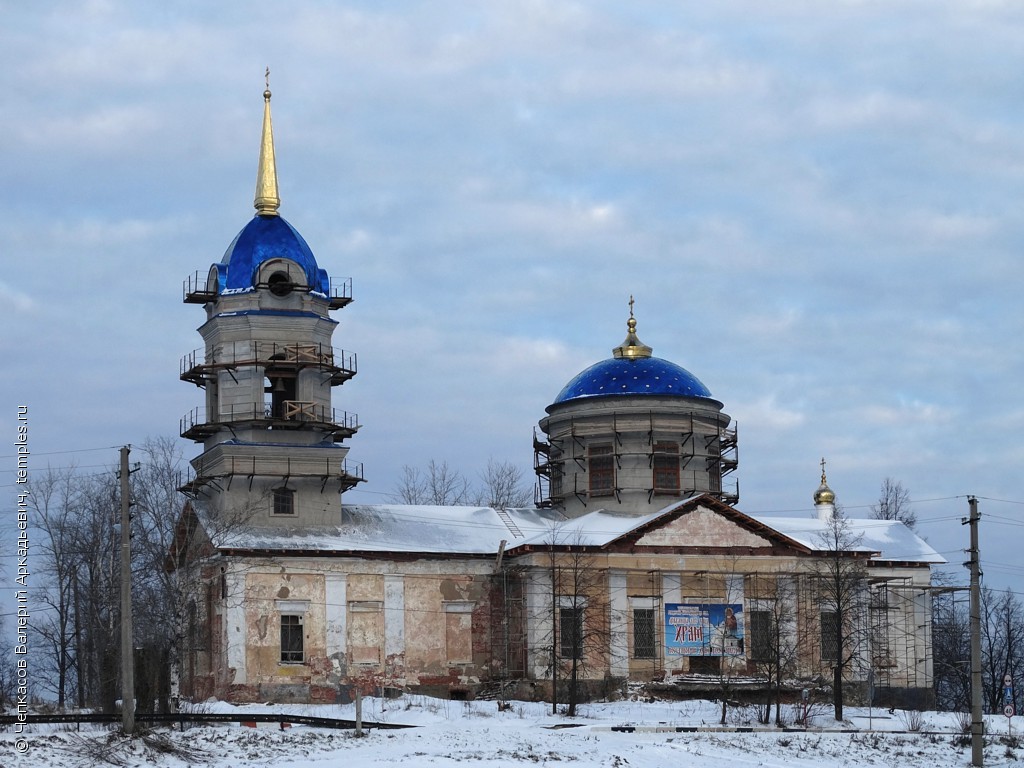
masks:
<path id="1" fill-rule="evenodd" d="M 711 397 L 697 377 L 675 362 L 660 357 L 610 357 L 578 374 L 558 393 L 555 402 L 614 394 Z"/>

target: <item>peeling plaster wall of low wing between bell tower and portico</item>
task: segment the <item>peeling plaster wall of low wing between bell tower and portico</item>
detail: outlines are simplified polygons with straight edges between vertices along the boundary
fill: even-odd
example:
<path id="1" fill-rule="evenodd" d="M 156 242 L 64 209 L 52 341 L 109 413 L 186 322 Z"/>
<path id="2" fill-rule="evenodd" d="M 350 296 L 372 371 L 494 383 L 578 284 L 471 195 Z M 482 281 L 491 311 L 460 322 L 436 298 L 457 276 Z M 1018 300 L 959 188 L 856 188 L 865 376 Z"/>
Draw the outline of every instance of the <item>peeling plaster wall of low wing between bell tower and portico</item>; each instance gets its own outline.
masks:
<path id="1" fill-rule="evenodd" d="M 228 651 L 236 700 L 335 700 L 365 690 L 443 693 L 489 669 L 489 561 L 294 558 L 238 564 L 229 580 Z M 243 597 L 244 596 L 244 597 Z M 303 662 L 281 660 L 281 616 L 302 616 Z"/>

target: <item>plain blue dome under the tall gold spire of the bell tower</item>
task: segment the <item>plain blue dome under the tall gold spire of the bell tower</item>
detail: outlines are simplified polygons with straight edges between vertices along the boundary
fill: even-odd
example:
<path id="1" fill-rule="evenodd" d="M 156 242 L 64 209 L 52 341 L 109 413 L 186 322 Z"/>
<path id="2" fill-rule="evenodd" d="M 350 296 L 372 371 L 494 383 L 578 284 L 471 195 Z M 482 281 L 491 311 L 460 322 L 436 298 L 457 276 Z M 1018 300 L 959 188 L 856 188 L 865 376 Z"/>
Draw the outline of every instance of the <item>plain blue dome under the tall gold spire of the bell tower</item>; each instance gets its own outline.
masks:
<path id="1" fill-rule="evenodd" d="M 311 291 L 329 296 L 331 281 L 327 271 L 316 266 L 309 246 L 295 227 L 281 216 L 257 215 L 246 224 L 217 264 L 218 293 L 251 290 L 256 285 L 260 265 L 270 259 L 291 259 L 306 274 Z"/>

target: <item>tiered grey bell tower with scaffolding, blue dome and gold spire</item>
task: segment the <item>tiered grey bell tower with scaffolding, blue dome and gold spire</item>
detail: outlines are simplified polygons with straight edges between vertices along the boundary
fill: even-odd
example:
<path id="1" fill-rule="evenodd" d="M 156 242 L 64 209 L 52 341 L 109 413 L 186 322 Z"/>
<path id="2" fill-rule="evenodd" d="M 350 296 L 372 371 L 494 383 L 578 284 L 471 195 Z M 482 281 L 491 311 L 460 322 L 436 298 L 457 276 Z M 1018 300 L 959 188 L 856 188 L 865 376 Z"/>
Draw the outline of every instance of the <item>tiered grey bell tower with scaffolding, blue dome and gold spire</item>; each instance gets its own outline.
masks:
<path id="1" fill-rule="evenodd" d="M 181 436 L 203 444 L 181 489 L 254 525 L 336 525 L 341 494 L 364 479 L 342 444 L 356 416 L 331 401 L 355 375 L 355 354 L 332 346 L 331 317 L 351 302 L 352 284 L 331 279 L 278 212 L 269 83 L 254 206 L 220 262 L 183 286 L 206 322 L 180 374 L 206 402 L 181 419 Z"/>

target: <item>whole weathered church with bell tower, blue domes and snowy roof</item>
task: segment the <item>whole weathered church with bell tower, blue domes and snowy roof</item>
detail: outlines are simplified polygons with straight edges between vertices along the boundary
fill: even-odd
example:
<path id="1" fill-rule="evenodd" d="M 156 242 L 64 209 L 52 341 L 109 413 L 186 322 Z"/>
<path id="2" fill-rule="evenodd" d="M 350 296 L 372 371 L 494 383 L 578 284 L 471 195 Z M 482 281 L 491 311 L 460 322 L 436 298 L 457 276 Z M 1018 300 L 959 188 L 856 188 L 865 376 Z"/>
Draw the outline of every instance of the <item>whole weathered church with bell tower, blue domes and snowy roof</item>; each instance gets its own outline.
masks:
<path id="1" fill-rule="evenodd" d="M 901 522 L 837 517 L 823 462 L 815 516 L 737 509 L 735 425 L 640 341 L 632 299 L 612 356 L 540 420 L 535 507 L 344 503 L 364 481 L 358 419 L 334 406 L 356 375 L 334 346 L 351 281 L 280 206 L 267 90 L 256 214 L 184 286 L 206 318 L 181 364 L 205 402 L 180 431 L 202 453 L 168 558 L 188 585 L 182 695 L 713 694 L 839 668 L 852 691 L 927 699 L 942 558 Z"/>

